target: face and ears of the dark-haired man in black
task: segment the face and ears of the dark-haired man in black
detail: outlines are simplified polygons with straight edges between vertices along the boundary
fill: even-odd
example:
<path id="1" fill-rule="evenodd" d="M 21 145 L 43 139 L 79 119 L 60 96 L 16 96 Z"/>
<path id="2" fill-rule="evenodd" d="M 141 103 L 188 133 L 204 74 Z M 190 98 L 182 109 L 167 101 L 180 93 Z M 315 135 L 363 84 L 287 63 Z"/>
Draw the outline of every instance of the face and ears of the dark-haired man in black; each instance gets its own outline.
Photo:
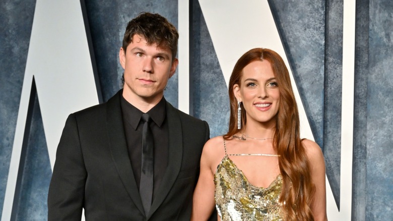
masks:
<path id="1" fill-rule="evenodd" d="M 178 60 L 172 61 L 169 48 L 146 43 L 136 34 L 126 51 L 120 48 L 120 64 L 124 69 L 123 97 L 128 102 L 156 104 L 163 96 L 168 79 L 175 73 Z"/>

